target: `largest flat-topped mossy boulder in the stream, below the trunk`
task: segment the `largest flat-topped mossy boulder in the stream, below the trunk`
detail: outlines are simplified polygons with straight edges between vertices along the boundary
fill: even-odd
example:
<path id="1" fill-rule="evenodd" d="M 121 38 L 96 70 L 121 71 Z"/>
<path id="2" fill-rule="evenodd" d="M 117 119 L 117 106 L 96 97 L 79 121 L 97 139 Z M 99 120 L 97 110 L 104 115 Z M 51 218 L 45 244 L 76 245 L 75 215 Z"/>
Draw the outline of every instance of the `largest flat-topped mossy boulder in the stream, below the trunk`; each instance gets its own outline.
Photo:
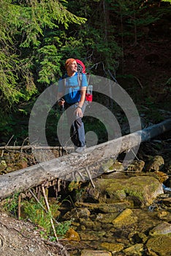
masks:
<path id="1" fill-rule="evenodd" d="M 163 193 L 162 184 L 153 176 L 136 176 L 131 178 L 99 179 L 95 183 L 99 191 L 99 203 L 117 203 L 121 200 L 133 200 L 139 206 L 149 206 Z"/>

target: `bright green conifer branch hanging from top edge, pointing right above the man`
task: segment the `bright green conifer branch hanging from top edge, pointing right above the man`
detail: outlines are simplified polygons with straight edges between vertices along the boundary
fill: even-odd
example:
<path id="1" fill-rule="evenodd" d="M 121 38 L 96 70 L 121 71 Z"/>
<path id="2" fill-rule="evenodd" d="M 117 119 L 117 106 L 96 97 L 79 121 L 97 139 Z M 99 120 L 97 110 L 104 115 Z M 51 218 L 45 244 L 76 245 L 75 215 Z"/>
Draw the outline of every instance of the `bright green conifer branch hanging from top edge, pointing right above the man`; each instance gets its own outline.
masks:
<path id="1" fill-rule="evenodd" d="M 58 29 L 61 23 L 65 29 L 68 29 L 69 23 L 85 23 L 85 18 L 79 18 L 60 3 L 60 1 L 29 1 L 28 6 L 23 7 L 23 19 L 21 31 L 25 32 L 25 40 L 20 46 L 28 48 L 30 45 L 39 46 L 41 36 L 44 30 Z"/>

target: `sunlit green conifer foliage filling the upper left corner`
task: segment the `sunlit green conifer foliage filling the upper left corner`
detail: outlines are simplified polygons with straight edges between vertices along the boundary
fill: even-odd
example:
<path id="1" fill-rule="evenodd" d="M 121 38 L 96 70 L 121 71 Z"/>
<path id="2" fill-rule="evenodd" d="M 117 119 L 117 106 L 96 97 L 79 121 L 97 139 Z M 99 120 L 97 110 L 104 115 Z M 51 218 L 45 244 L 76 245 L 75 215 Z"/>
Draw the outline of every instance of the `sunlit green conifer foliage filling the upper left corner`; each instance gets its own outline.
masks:
<path id="1" fill-rule="evenodd" d="M 43 42 L 46 31 L 61 24 L 85 23 L 86 18 L 72 14 L 60 1 L 0 2 L 0 90 L 1 98 L 13 105 L 37 93 L 37 82 L 50 84 L 60 74 L 61 54 L 56 45 Z M 56 42 L 59 38 L 56 38 Z M 25 50 L 26 49 L 26 50 Z M 38 58 L 37 58 L 38 56 Z M 39 67 L 39 75 L 35 74 Z M 39 78 L 38 78 L 39 77 Z"/>

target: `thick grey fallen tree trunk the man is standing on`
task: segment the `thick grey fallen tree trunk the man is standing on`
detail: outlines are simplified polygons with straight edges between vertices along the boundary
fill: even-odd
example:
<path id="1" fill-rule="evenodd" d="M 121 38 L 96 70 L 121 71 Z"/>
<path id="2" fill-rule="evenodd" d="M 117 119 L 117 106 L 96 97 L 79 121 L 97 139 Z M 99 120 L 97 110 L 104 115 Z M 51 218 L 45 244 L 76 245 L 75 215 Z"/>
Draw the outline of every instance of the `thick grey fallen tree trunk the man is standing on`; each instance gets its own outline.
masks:
<path id="1" fill-rule="evenodd" d="M 56 178 L 71 181 L 75 178 L 73 176 L 75 172 L 82 176 L 82 173 L 85 172 L 87 167 L 91 167 L 91 170 L 94 170 L 104 160 L 110 157 L 117 158 L 118 154 L 123 151 L 138 148 L 140 143 L 150 140 L 170 129 L 171 118 L 121 138 L 86 148 L 85 154 L 69 154 L 64 157 L 41 162 L 31 167 L 26 167 L 22 170 L 7 173 L 0 176 L 0 197 L 4 198 L 15 192 L 26 191 L 31 187 L 36 187 L 39 184 L 52 181 Z M 95 173 L 95 176 L 99 176 L 99 173 Z M 88 176 L 83 179 L 88 179 Z"/>

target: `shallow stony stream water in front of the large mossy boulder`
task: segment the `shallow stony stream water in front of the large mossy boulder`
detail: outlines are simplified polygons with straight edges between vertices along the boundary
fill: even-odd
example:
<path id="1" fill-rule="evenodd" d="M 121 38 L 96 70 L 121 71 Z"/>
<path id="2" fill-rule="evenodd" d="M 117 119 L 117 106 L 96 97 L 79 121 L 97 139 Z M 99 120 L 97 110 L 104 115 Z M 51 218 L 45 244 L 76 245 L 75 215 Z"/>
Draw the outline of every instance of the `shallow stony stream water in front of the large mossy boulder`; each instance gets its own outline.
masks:
<path id="1" fill-rule="evenodd" d="M 110 203 L 109 208 L 103 204 L 97 206 L 98 203 L 75 203 L 75 208 L 70 208 L 62 218 L 74 217 L 72 229 L 66 235 L 73 246 L 70 255 L 80 256 L 85 249 L 87 256 L 89 252 L 94 255 L 92 251 L 118 256 L 155 255 L 154 252 L 171 255 L 170 236 L 167 236 L 171 233 L 170 188 L 165 187 L 165 192 L 145 207 L 126 201 Z"/>

